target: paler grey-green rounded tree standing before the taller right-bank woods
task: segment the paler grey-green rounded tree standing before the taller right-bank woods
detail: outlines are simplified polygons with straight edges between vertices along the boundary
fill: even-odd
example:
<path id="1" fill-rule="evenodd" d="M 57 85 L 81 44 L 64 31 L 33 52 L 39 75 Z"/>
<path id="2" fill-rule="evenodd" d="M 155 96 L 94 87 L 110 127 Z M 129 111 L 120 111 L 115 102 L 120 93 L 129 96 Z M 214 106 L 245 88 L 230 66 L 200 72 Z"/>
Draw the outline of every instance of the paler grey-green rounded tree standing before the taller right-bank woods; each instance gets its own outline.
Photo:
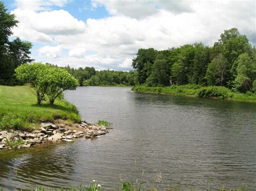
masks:
<path id="1" fill-rule="evenodd" d="M 226 68 L 227 60 L 222 54 L 217 55 L 207 67 L 206 79 L 208 85 L 223 86 Z"/>

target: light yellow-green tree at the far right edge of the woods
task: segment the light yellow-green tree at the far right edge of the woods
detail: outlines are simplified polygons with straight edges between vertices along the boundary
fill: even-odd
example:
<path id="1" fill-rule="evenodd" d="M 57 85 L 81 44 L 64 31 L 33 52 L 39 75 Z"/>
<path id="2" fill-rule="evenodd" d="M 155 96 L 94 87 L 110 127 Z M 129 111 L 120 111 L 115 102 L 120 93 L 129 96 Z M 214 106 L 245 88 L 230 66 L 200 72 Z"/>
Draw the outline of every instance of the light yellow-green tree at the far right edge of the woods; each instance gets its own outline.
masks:
<path id="1" fill-rule="evenodd" d="M 236 88 L 240 91 L 252 89 L 252 82 L 256 79 L 256 62 L 247 53 L 240 54 L 237 62 L 237 76 L 235 77 Z"/>

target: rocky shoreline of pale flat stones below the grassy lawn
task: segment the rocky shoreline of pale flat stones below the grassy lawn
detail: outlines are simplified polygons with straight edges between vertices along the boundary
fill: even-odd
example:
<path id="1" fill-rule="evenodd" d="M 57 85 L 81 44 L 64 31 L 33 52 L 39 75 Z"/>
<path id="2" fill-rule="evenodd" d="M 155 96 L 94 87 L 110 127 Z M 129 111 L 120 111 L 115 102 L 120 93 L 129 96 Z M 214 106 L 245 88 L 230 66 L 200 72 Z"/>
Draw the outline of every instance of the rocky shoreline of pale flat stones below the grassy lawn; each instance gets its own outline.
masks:
<path id="1" fill-rule="evenodd" d="M 57 120 L 54 123 L 41 123 L 37 130 L 0 131 L 0 150 L 29 148 L 32 145 L 45 142 L 72 142 L 76 138 L 86 139 L 104 135 L 110 128 L 89 124 L 85 121 L 79 124 L 66 125 L 65 121 Z"/>

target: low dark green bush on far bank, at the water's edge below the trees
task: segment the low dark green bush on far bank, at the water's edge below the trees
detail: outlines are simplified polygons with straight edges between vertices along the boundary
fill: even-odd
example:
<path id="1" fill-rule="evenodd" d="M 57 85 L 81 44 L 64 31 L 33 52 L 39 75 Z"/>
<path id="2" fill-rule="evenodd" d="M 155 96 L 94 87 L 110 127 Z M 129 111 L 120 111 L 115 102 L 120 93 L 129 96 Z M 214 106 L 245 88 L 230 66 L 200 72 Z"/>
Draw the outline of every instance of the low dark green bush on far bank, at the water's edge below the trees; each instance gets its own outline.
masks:
<path id="1" fill-rule="evenodd" d="M 221 98 L 231 98 L 233 93 L 231 90 L 223 86 L 210 86 L 200 88 L 198 91 L 199 97 L 221 97 Z"/>

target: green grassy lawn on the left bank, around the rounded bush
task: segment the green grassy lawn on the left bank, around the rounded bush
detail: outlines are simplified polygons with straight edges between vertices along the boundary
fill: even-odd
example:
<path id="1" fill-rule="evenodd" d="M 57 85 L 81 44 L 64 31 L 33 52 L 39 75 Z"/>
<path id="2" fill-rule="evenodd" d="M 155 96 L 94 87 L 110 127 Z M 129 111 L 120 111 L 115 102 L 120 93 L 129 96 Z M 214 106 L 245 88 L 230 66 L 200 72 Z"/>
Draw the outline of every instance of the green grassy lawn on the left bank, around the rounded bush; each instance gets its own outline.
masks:
<path id="1" fill-rule="evenodd" d="M 55 119 L 80 121 L 75 105 L 57 99 L 55 105 L 37 105 L 34 91 L 25 86 L 0 86 L 0 130 L 28 129 Z"/>

